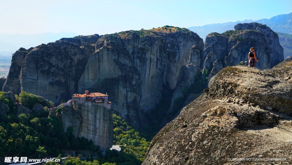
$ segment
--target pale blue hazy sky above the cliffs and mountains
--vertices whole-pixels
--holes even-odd
[[[163,25],[270,19],[292,12],[292,0],[1,0],[0,33],[109,34]]]

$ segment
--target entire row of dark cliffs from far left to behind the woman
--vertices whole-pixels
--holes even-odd
[[[20,49],[13,55],[3,91],[26,91],[56,104],[85,90],[108,93],[112,110],[137,127],[147,123],[144,113],[157,110],[162,93],[171,93],[166,115],[173,118],[180,111],[173,111],[175,98],[182,97],[179,106],[189,103],[200,93],[191,90],[198,81],[247,60],[251,46],[256,47],[258,68],[284,60],[277,34],[270,28],[251,23],[236,29],[208,35],[205,52],[196,33],[170,26],[62,38]],[[203,71],[197,73],[199,69]]]

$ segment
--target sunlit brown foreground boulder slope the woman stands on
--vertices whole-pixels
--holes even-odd
[[[291,70],[224,68],[153,138],[143,165],[292,164]]]

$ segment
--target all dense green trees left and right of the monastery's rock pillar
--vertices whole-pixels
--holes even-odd
[[[33,107],[36,103],[41,103],[38,96],[27,92],[22,92],[16,98],[24,106]],[[0,93],[0,101],[12,105],[4,92]],[[58,108],[55,112],[61,112]],[[48,107],[44,107],[43,112],[31,114],[16,115],[14,111],[7,115],[1,115],[0,118],[0,156],[21,155],[26,157],[56,157],[60,156],[61,150],[75,150],[78,154],[80,150],[97,152],[98,156],[93,159],[88,155],[86,160],[80,160],[79,157],[69,157],[65,164],[81,165],[139,165],[145,159],[145,153],[149,147],[149,141],[142,138],[128,123],[113,115],[114,121],[114,143],[122,145],[121,151],[106,150],[106,156],[103,157],[99,146],[95,146],[92,140],[84,137],[75,137],[73,128],[68,127],[66,133],[63,131],[62,121],[55,116],[48,116]],[[80,153],[80,152],[79,152]],[[55,162],[46,163],[55,165]]]

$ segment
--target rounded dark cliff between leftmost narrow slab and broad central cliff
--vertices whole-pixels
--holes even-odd
[[[30,51],[19,76],[21,90],[59,103],[77,92],[78,81],[94,47],[58,40]]]

